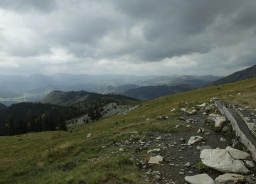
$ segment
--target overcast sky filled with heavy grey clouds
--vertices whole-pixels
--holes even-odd
[[[1,0],[0,74],[229,75],[256,64],[255,0]]]

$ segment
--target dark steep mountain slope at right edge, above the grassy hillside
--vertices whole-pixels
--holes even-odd
[[[216,80],[215,82],[211,82],[207,86],[223,85],[223,84],[227,84],[230,82],[246,80],[251,77],[255,77],[255,75],[256,75],[256,65],[254,65],[252,67],[248,67],[245,70],[235,72],[235,73],[228,75],[227,77],[224,77],[220,80]]]

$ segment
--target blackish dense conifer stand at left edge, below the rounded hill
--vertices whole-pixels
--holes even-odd
[[[0,111],[0,136],[66,130],[65,120],[82,115],[75,107],[22,102]]]

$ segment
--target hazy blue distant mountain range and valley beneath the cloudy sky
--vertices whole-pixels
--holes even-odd
[[[18,102],[40,102],[47,94],[55,90],[64,92],[84,90],[100,94],[124,94],[124,92],[129,90],[145,86],[184,84],[193,87],[203,87],[203,85],[218,79],[220,77],[212,75],[134,76],[55,74],[47,76],[35,74],[28,77],[0,75],[0,102],[6,105]],[[138,95],[135,96],[137,97]]]

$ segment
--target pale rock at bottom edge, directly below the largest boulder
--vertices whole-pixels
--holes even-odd
[[[215,178],[215,183],[242,183],[245,181],[245,176],[238,175],[238,174],[232,174],[232,173],[226,173],[223,175],[219,175],[217,178]]]

